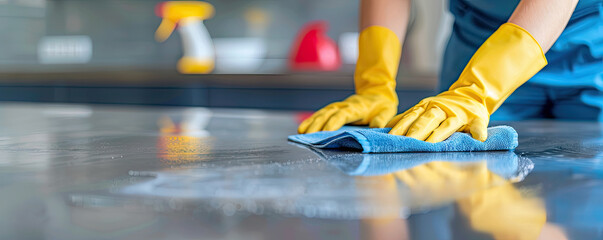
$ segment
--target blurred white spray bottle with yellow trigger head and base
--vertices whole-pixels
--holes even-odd
[[[214,15],[214,7],[199,1],[168,1],[159,3],[155,13],[163,18],[155,32],[157,41],[165,41],[176,28],[182,38],[184,56],[178,61],[178,71],[210,73],[215,66],[215,53],[203,20]]]

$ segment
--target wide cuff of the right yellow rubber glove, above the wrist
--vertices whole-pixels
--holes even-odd
[[[492,114],[546,65],[538,41],[520,26],[505,23],[475,52],[449,91],[483,103]]]

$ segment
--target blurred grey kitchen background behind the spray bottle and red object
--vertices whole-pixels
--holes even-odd
[[[314,110],[353,92],[359,1],[222,0],[203,21],[208,74],[182,74],[182,32],[154,34],[154,0],[0,0],[0,101]],[[400,71],[400,108],[437,88],[452,25],[443,0],[414,1]],[[292,66],[310,23],[327,26],[335,69]],[[300,32],[301,31],[301,32]],[[320,49],[318,50],[320,51]]]

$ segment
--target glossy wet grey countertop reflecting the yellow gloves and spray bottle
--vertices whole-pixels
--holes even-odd
[[[603,126],[513,152],[289,143],[294,113],[0,105],[0,239],[603,239]]]

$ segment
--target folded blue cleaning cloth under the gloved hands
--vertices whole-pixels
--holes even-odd
[[[517,132],[509,126],[488,128],[488,139],[480,142],[470,134],[456,132],[439,143],[429,143],[406,136],[388,134],[390,128],[342,128],[289,136],[289,140],[315,148],[351,149],[363,153],[396,152],[471,152],[513,150]]]

